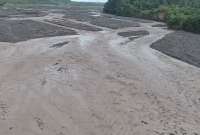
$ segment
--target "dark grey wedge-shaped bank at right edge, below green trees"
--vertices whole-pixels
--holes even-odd
[[[200,35],[178,31],[154,43],[152,48],[200,67]]]

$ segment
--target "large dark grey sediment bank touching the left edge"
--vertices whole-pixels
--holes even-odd
[[[0,42],[19,42],[34,38],[76,35],[70,29],[31,20],[0,20]]]

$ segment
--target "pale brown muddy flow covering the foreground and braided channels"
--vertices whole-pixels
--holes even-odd
[[[30,38],[17,31],[15,42],[10,34],[0,38],[0,135],[200,135],[200,69],[150,48],[172,31],[139,19],[112,22],[88,9],[77,17],[76,9],[3,19],[48,29],[34,25],[47,35]],[[46,21],[55,19],[102,31]],[[48,35],[54,27],[77,34]],[[118,35],[127,31],[149,34],[131,41]]]

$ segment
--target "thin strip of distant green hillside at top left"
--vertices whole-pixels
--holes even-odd
[[[70,0],[0,0],[0,4],[65,4],[69,1]]]

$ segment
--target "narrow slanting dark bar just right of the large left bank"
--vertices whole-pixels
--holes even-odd
[[[61,26],[78,29],[78,30],[102,31],[102,29],[100,29],[100,28],[89,26],[89,25],[82,24],[82,23],[72,22],[69,20],[46,20],[46,21],[50,22],[50,23],[58,24]]]

